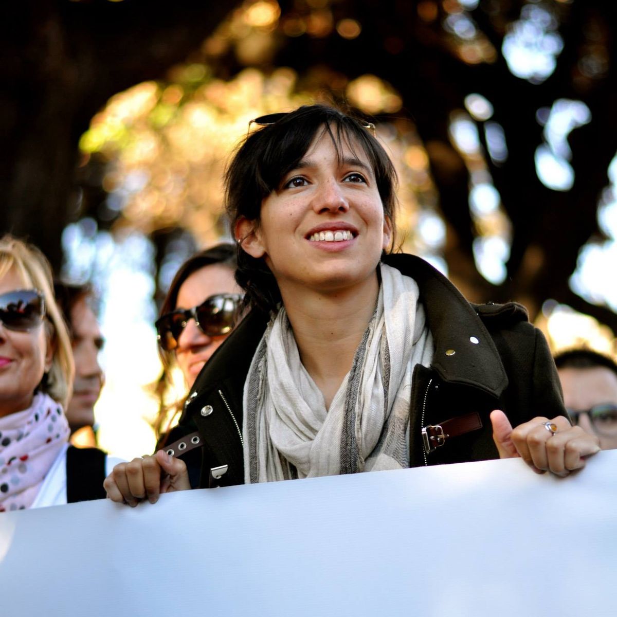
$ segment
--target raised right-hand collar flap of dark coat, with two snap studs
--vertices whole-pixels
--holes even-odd
[[[474,307],[444,275],[420,257],[387,255],[384,263],[418,283],[435,344],[432,366],[439,376],[499,397],[508,385],[508,377],[497,347]]]

